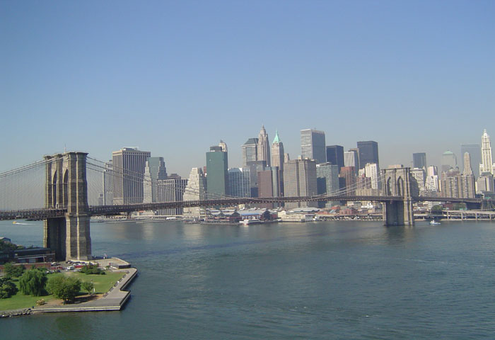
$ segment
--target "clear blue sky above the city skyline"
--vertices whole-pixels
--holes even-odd
[[[187,176],[264,124],[291,154],[376,140],[438,164],[495,140],[495,1],[0,1],[0,171],[125,146]],[[494,142],[495,143],[495,142]],[[495,145],[494,145],[495,147]]]

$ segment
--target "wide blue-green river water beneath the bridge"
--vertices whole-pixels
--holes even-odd
[[[42,245],[42,222],[0,236]],[[4,339],[495,339],[495,223],[92,223],[139,269],[121,312],[0,319]]]

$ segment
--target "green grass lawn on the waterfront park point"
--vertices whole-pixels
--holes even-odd
[[[95,284],[95,293],[96,294],[103,294],[106,293],[110,288],[112,288],[112,285],[114,285],[117,280],[120,280],[122,276],[124,276],[123,272],[119,273],[112,273],[110,271],[106,272],[106,275],[86,275],[83,273],[77,273],[77,272],[64,272],[64,273],[53,273],[53,274],[48,274],[48,280],[54,276],[59,276],[59,275],[70,275],[70,276],[75,276],[81,281],[91,281],[93,280],[93,283]],[[18,279],[14,279],[13,281],[16,283],[17,287],[19,288],[19,282]],[[85,292],[81,290],[80,295],[86,295],[88,292]],[[48,302],[50,300],[54,300],[53,295],[45,295],[45,296],[31,296],[31,295],[24,295],[20,291],[12,296],[8,297],[8,299],[0,299],[0,310],[19,310],[21,308],[28,308],[36,305],[36,301],[40,299],[44,299],[45,302]]]

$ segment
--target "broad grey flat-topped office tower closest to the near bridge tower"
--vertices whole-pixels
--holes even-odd
[[[143,203],[143,176],[151,152],[124,147],[112,152],[114,204]]]

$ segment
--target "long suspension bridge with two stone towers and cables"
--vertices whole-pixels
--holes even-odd
[[[163,203],[97,205],[88,198],[100,191],[103,162],[86,152],[65,152],[45,156],[42,161],[0,174],[0,220],[43,220],[43,245],[58,259],[88,260],[91,256],[90,220],[93,216],[119,215],[141,210],[187,207],[218,207],[256,203],[315,201],[374,201],[383,203],[385,225],[414,225],[413,204],[419,201],[466,203],[480,208],[479,198],[419,196],[409,168],[384,169],[383,195],[356,196],[344,189],[320,196],[240,198],[214,196],[204,200]],[[41,188],[37,191],[33,188]],[[347,188],[349,189],[349,188]],[[93,191],[93,193],[90,193]]]

